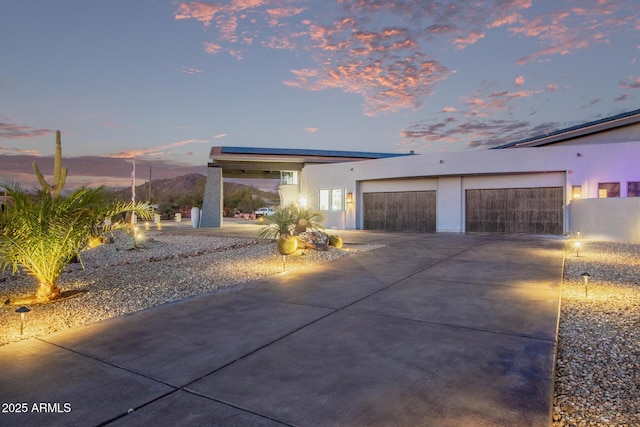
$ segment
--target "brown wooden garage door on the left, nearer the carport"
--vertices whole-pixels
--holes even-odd
[[[364,193],[365,230],[435,231],[436,192]]]

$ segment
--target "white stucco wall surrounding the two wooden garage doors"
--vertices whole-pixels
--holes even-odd
[[[364,190],[406,191],[429,183],[438,193],[437,231],[455,232],[464,231],[466,189],[560,186],[566,207],[574,185],[582,186],[583,198],[595,198],[598,183],[620,182],[625,197],[626,182],[640,181],[638,158],[640,142],[429,153],[306,166],[302,188],[309,200],[317,199],[321,188],[353,191],[353,205],[342,215],[328,215],[327,226],[362,228]],[[568,232],[566,208],[563,218]]]

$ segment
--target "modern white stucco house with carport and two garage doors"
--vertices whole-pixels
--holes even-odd
[[[487,150],[214,147],[211,159],[202,226],[222,224],[223,175],[279,175],[282,204],[323,211],[327,228],[640,242],[640,110]]]

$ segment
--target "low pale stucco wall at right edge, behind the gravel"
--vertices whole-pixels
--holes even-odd
[[[640,197],[573,200],[569,216],[573,236],[640,243]]]

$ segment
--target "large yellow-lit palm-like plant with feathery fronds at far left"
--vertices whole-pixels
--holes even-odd
[[[38,281],[38,302],[60,297],[58,278],[64,268],[88,241],[125,223],[105,221],[112,216],[133,212],[151,219],[153,211],[143,203],[104,201],[103,188],[81,188],[68,197],[52,197],[44,193],[33,201],[16,185],[2,185],[13,203],[0,214],[0,266],[12,273],[23,268]]]

